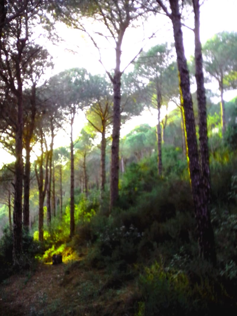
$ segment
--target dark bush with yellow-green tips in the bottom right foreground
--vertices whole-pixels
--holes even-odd
[[[201,274],[193,277],[184,270],[155,262],[140,275],[142,300],[137,316],[236,314],[236,301],[215,276],[210,265],[199,260]],[[209,267],[206,269],[206,267]],[[207,272],[207,273],[205,273]]]

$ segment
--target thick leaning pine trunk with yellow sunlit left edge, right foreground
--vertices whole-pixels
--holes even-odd
[[[180,87],[182,91],[185,114],[185,130],[188,147],[189,171],[195,206],[195,217],[197,220],[199,251],[201,257],[211,261],[213,264],[216,264],[214,234],[210,222],[208,205],[206,204],[204,183],[202,180],[201,168],[199,165],[194,112],[190,92],[189,71],[187,68],[187,61],[185,58],[183,45],[183,33],[181,29],[181,14],[179,12],[179,1],[169,0],[169,2],[172,11],[170,18],[173,24],[175,49],[180,74]]]

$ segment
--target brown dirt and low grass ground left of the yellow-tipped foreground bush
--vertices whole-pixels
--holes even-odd
[[[136,288],[79,261],[39,263],[0,284],[0,315],[133,315]]]

